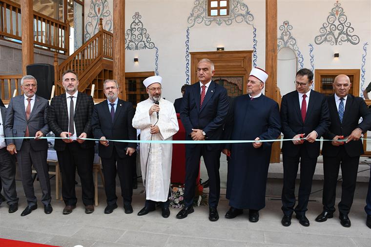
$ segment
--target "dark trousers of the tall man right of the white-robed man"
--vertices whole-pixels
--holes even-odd
[[[193,144],[192,144],[193,145]],[[197,144],[190,148],[186,144],[186,183],[184,202],[185,206],[192,206],[196,189],[196,180],[200,170],[200,158],[204,157],[207,175],[209,177],[210,207],[217,207],[220,196],[220,150],[209,151],[206,144]]]

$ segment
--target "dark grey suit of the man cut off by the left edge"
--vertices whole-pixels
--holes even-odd
[[[2,123],[4,124],[6,108],[0,106],[0,111]],[[0,128],[4,127],[3,124],[0,125]],[[0,148],[0,179],[7,204],[12,205],[18,203],[16,192],[16,163],[14,161],[14,156],[9,154],[6,147]]]

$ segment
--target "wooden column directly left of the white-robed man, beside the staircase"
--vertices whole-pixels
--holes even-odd
[[[125,1],[113,0],[113,79],[120,85],[119,98],[125,91]]]

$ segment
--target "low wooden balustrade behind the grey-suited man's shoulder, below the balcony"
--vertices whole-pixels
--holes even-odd
[[[0,95],[4,104],[9,103],[13,97],[13,90],[17,89],[17,94],[21,95],[23,92],[19,88],[21,84],[22,75],[5,75],[0,76]]]

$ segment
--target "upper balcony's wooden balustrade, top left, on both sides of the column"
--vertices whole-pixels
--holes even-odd
[[[55,20],[36,11],[34,15],[34,45],[68,54],[69,23]],[[0,36],[21,41],[21,5],[0,0]]]

